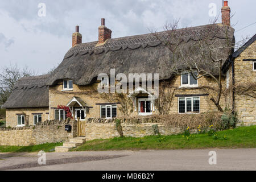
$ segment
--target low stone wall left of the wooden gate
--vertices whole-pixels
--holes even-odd
[[[65,131],[65,125],[71,125],[72,131]],[[77,137],[77,121],[45,121],[36,126],[24,126],[0,129],[0,145],[30,146],[43,143],[65,142]]]

